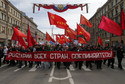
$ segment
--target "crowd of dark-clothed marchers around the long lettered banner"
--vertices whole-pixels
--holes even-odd
[[[86,65],[86,68],[90,68],[91,70],[93,69],[93,65],[96,66],[97,69],[102,69],[102,64],[107,64],[108,67],[111,67],[114,69],[114,63],[115,63],[115,56],[117,56],[118,60],[118,68],[123,69],[122,67],[122,59],[124,58],[124,46],[118,45],[117,47],[109,46],[106,45],[106,47],[101,47],[101,46],[79,46],[79,45],[34,45],[33,47],[29,47],[25,49],[24,47],[17,47],[17,46],[12,46],[12,47],[7,47],[7,46],[0,46],[0,66],[2,64],[7,63],[8,66],[15,66],[17,65],[18,68],[21,68],[22,65],[24,64],[25,66],[29,65],[31,68],[33,64],[35,63],[37,66],[36,68],[40,68],[41,65],[43,64],[44,68],[51,68],[53,62],[33,62],[33,61],[17,61],[17,60],[5,60],[7,52],[9,51],[18,51],[18,52],[36,52],[36,51],[99,51],[99,50],[112,50],[114,53],[114,58],[108,59],[108,60],[92,60],[92,61],[75,61],[75,62],[63,62],[63,65],[65,66],[66,69],[69,69],[69,66],[71,63],[74,63],[75,68],[81,69],[83,63]],[[48,63],[48,64],[47,64]],[[55,62],[55,66],[60,69],[62,63],[61,62]]]

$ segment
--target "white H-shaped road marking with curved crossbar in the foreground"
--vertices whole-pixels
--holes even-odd
[[[54,69],[55,69],[55,66],[53,66],[52,70],[51,70],[51,73],[50,73],[50,78],[48,80],[48,82],[52,82],[53,79],[55,80],[66,80],[66,79],[69,79],[69,82],[70,84],[74,84],[74,81],[72,79],[72,75],[70,73],[70,71],[68,69],[67,70],[67,77],[64,77],[64,78],[57,78],[57,77],[54,77],[53,74],[54,74]]]

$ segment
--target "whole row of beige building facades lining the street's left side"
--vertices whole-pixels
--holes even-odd
[[[8,0],[0,0],[0,45],[11,45],[13,27],[17,26],[20,31],[27,35],[28,24],[31,34],[35,38],[38,29],[36,23],[33,22],[33,18],[26,16]]]

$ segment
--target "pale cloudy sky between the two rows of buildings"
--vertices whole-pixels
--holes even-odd
[[[64,34],[64,30],[51,26],[48,19],[47,12],[57,14],[63,17],[70,28],[76,29],[76,24],[80,22],[80,15],[82,14],[87,19],[90,19],[97,11],[98,8],[103,6],[107,0],[9,0],[16,8],[26,13],[28,17],[33,17],[34,22],[38,25],[38,29],[43,33],[48,32],[52,35],[52,28],[54,34]],[[35,13],[33,13],[33,3],[37,4],[85,4],[88,3],[89,12],[86,13],[85,7],[83,11],[81,8],[68,9],[65,12],[56,12],[52,9],[41,8],[38,11],[37,7]]]

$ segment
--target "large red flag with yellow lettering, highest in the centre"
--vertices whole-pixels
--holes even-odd
[[[61,28],[61,29],[68,28],[68,25],[66,23],[67,21],[64,18],[56,14],[52,14],[50,12],[48,12],[48,17],[49,17],[50,25],[55,25],[56,27]]]

